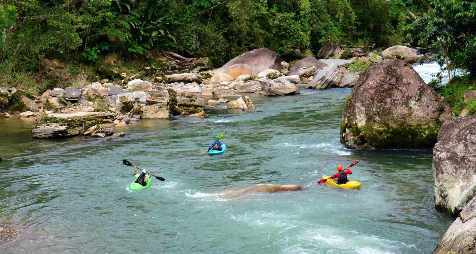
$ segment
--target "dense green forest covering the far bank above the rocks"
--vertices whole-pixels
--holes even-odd
[[[14,71],[40,74],[45,58],[94,64],[111,53],[144,60],[174,51],[220,66],[261,47],[313,54],[329,40],[401,42],[406,9],[426,6],[426,0],[4,0],[1,53],[2,61],[14,59]]]

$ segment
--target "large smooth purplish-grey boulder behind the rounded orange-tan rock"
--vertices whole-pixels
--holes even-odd
[[[251,76],[256,76],[259,72],[266,69],[281,71],[281,59],[278,54],[270,49],[261,48],[243,53],[233,58],[215,73],[223,73],[228,70],[228,67],[238,63],[248,64],[252,71]]]

